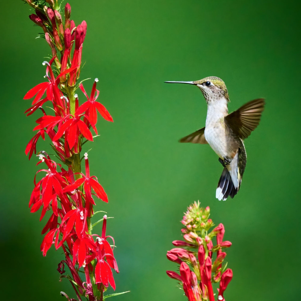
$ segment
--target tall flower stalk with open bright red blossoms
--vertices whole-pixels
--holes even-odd
[[[46,81],[24,96],[24,99],[33,98],[31,107],[25,111],[27,116],[40,113],[33,129],[37,132],[25,150],[29,159],[37,154],[37,165],[42,166],[34,178],[30,211],[42,209],[40,220],[50,216],[42,230],[45,236],[41,251],[46,256],[52,245],[56,249],[62,248],[65,259],[57,268],[61,279],[70,281],[78,300],[102,301],[109,286],[115,290],[112,270],[117,273],[119,270],[113,254],[114,239],[106,235],[107,215],[103,216],[101,235],[93,234],[94,198],[108,202],[108,197],[97,177],[90,175],[87,152],[83,156],[81,152],[85,142],[93,141],[91,131],[98,135],[97,114],[110,122],[113,119],[107,109],[96,101],[99,95],[96,89],[98,79],[94,81],[90,96],[82,83],[77,83],[87,23],[82,21],[75,25],[70,19],[69,3],[61,8],[57,0],[24,2],[35,9],[35,14],[29,18],[43,29],[51,51],[50,61],[43,62]],[[78,88],[87,98],[81,105],[76,94]],[[53,110],[48,114],[49,105]],[[54,156],[36,151],[37,141],[40,137],[45,140],[45,135],[52,141]],[[57,159],[60,163],[56,162]],[[82,172],[82,160],[85,162],[85,172]],[[69,275],[64,270],[65,265],[70,270]],[[81,272],[85,275],[85,281],[79,276]],[[66,293],[61,294],[70,299]]]

